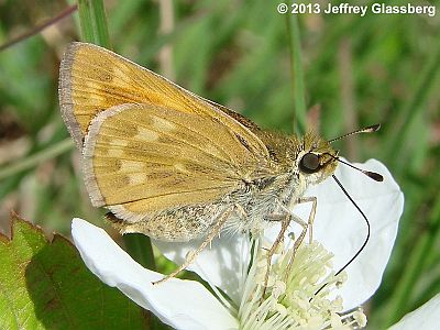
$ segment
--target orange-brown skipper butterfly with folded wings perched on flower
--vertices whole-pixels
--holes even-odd
[[[316,198],[304,191],[338,163],[328,141],[264,131],[91,44],[70,44],[59,75],[63,119],[82,152],[92,205],[109,209],[121,233],[175,242],[206,238],[169,276],[223,229],[260,231],[280,221],[272,253],[292,220],[302,226],[304,239],[316,209]],[[308,221],[292,213],[300,202],[314,205]]]

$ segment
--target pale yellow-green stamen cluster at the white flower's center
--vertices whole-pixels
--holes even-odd
[[[366,317],[362,309],[341,314],[342,298],[334,290],[345,282],[346,274],[342,272],[334,276],[331,262],[333,255],[320,243],[314,241],[311,244],[301,244],[296,253],[292,248],[283,249],[280,254],[274,255],[265,289],[267,251],[258,248],[258,244],[255,241],[256,253],[239,308],[241,329],[365,327]]]

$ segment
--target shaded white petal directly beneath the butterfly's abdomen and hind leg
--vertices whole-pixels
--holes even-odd
[[[187,243],[169,243],[153,240],[153,243],[170,261],[180,265],[189,251],[195,251],[201,240]],[[222,234],[212,240],[211,246],[205,249],[196,261],[188,266],[201,278],[221,288],[235,304],[240,301],[240,278],[246,271],[250,256],[249,240],[245,234]]]

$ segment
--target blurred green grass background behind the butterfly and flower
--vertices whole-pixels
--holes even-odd
[[[383,329],[440,292],[440,13],[296,20],[277,13],[279,2],[105,4],[116,52],[263,128],[294,132],[301,107],[294,89],[301,82],[307,125],[323,136],[382,123],[380,132],[339,146],[352,162],[385,163],[405,194],[392,260],[365,305],[370,328]],[[0,46],[73,4],[0,0]],[[80,40],[79,31],[75,12],[0,52],[0,229],[7,234],[11,210],[66,235],[73,217],[105,226],[82,186],[79,154],[66,140],[57,101],[59,59],[69,42]]]

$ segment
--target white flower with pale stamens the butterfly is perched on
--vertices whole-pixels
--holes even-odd
[[[338,316],[337,312],[356,308],[377,289],[396,238],[397,224],[404,205],[403,194],[384,165],[377,161],[369,161],[365,164],[356,164],[356,166],[382,174],[384,182],[376,183],[346,166],[338,166],[337,177],[367,216],[372,233],[364,251],[344,272],[346,273],[346,280],[343,286],[337,288],[334,280],[329,279],[333,285],[330,284],[326,287],[331,293],[331,296],[328,297],[330,302],[327,304],[326,308],[334,317]],[[366,224],[355,207],[332,179],[310,188],[306,195],[318,198],[314,240],[334,254],[333,272],[336,272],[362,245],[366,235]],[[294,211],[302,219],[307,219],[309,209],[308,206],[298,206]],[[74,219],[72,227],[75,244],[91,272],[102,282],[118,287],[133,301],[152,310],[163,322],[176,329],[239,329],[249,321],[252,315],[255,315],[252,314],[252,310],[255,311],[255,308],[260,306],[258,301],[251,307],[246,304],[251,297],[249,295],[250,283],[258,280],[258,277],[248,276],[251,253],[250,242],[245,235],[222,235],[216,239],[211,248],[200,253],[196,262],[188,267],[209,283],[216,292],[216,295],[212,295],[201,284],[194,280],[172,278],[153,286],[152,282],[162,278],[163,275],[145,270],[134,262],[102,229],[80,219]],[[293,228],[296,231],[295,226]],[[267,238],[273,239],[278,230],[279,228],[267,230]],[[155,244],[168,258],[180,264],[186,254],[197,248],[200,242],[155,242]],[[304,244],[300,249],[308,249],[307,246],[314,245]],[[298,251],[294,260],[298,264],[301,260],[302,263],[306,263],[311,257],[309,255],[301,258],[299,254]],[[275,260],[278,263],[282,258]],[[254,265],[256,264],[257,262],[254,262]],[[274,274],[276,274],[277,265],[273,267]],[[301,275],[296,264],[294,267],[293,272]],[[319,279],[318,276],[317,280]],[[272,280],[273,285],[267,293],[268,298],[280,297],[285,294],[287,286],[292,286],[293,283],[287,280],[286,285]],[[319,284],[317,285],[319,288]],[[306,285],[301,283],[298,286],[296,295],[301,297],[307,305],[308,299],[315,298],[312,294],[315,288],[311,284],[306,294],[301,290]],[[218,288],[227,294],[230,299],[224,298]],[[292,308],[289,309],[293,306],[292,304],[298,304],[302,300],[294,299],[292,300],[294,302],[286,302],[287,305],[274,305],[272,310],[276,310],[278,315],[292,314]],[[329,309],[329,306],[333,304],[331,301],[334,301],[334,309]],[[286,306],[287,309],[283,309]],[[308,306],[305,306],[304,310],[307,310],[307,308]],[[330,320],[334,324],[331,323],[331,326],[336,327],[340,319],[334,319],[332,316],[330,316]],[[363,322],[362,316],[359,314],[352,314],[349,317],[359,318],[359,322]],[[307,314],[306,319],[312,327],[311,322],[319,319],[319,314]]]

